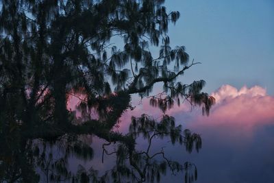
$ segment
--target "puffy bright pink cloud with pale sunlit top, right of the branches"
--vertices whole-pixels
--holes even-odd
[[[216,105],[210,117],[193,117],[204,125],[224,125],[237,129],[253,130],[254,127],[274,124],[274,97],[266,94],[260,86],[238,90],[233,86],[223,85],[212,93]]]

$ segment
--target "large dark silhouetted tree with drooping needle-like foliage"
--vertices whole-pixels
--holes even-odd
[[[185,171],[186,182],[197,179],[194,164],[179,164],[164,151],[151,154],[153,138],[171,138],[191,152],[201,138],[182,131],[164,114],[155,121],[147,114],[132,117],[128,134],[114,132],[131,96],[151,97],[151,105],[165,112],[180,99],[202,106],[209,114],[214,98],[201,90],[203,80],[192,84],[176,79],[197,62],[189,62],[185,47],[171,49],[169,23],[179,12],[167,12],[162,0],[3,0],[0,40],[0,180],[38,182],[40,167],[47,180],[71,182],[160,181],[166,169]],[[120,39],[112,45],[113,39]],[[149,47],[158,47],[153,56]],[[174,68],[171,68],[173,67]],[[151,96],[153,85],[163,84],[161,95]],[[67,109],[71,95],[81,95],[77,108],[82,118]],[[90,111],[96,115],[90,115]],[[96,116],[96,117],[95,117]],[[116,154],[112,171],[66,168],[69,154],[92,158],[82,135],[102,138],[103,156]],[[144,136],[149,146],[136,149]],[[116,150],[109,152],[110,144]],[[64,157],[54,160],[47,146],[62,144]],[[61,147],[60,147],[61,148]],[[162,160],[155,158],[162,157]],[[189,169],[195,168],[192,175]],[[110,176],[111,175],[111,176]]]

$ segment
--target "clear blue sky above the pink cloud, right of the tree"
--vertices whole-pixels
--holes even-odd
[[[166,7],[181,13],[169,29],[171,43],[202,62],[184,80],[206,80],[208,93],[230,84],[274,95],[274,1],[173,0]]]

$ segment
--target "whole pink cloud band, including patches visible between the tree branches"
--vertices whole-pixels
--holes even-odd
[[[210,116],[201,115],[201,108],[190,108],[185,102],[181,106],[175,105],[166,113],[174,116],[177,124],[181,123],[194,129],[219,127],[234,132],[249,135],[254,127],[274,124],[274,97],[267,95],[266,89],[260,86],[237,89],[234,86],[223,85],[211,94],[216,99]],[[72,97],[69,106],[74,110],[77,99]],[[133,97],[134,110],[127,110],[121,117],[119,131],[127,132],[132,116],[138,117],[146,113],[155,119],[162,117],[162,111],[149,105],[149,99],[140,101],[139,97]],[[222,130],[221,130],[222,131]]]

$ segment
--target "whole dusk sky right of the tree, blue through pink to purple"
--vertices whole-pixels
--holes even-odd
[[[171,45],[184,45],[190,59],[202,63],[179,80],[206,80],[204,91],[216,105],[209,117],[187,103],[167,112],[178,125],[201,134],[199,154],[171,147],[168,140],[156,141],[153,148],[166,147],[175,160],[194,162],[197,182],[274,182],[274,1],[172,0],[165,5],[181,14],[169,29]],[[136,108],[121,117],[121,132],[132,115],[162,115],[147,99],[141,104],[133,99]],[[99,156],[92,164],[100,164]],[[162,182],[183,182],[183,177],[168,174]]]

